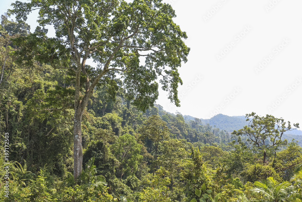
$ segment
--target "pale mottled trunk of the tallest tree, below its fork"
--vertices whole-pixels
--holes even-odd
[[[82,130],[81,121],[82,115],[80,109],[75,110],[74,122],[73,122],[73,177],[76,180],[82,173]]]

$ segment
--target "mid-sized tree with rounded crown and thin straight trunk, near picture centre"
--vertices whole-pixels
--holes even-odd
[[[153,166],[153,176],[157,165],[157,152],[160,141],[169,138],[169,129],[167,123],[162,121],[158,115],[150,116],[145,122],[144,126],[140,129],[141,138],[151,140],[155,145],[155,158]]]

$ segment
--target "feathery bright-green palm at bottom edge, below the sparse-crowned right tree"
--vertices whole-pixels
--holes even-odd
[[[262,201],[266,202],[288,201],[296,194],[291,183],[284,181],[279,184],[273,177],[255,181],[254,184],[256,188],[251,189],[252,194],[260,194]]]

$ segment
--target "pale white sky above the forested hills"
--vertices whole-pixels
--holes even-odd
[[[0,5],[2,14],[13,0]],[[302,126],[302,1],[164,0],[191,48],[179,73],[181,107],[159,89],[166,111],[197,118],[255,112]],[[37,12],[27,23],[37,26]],[[50,33],[52,32],[52,28]]]

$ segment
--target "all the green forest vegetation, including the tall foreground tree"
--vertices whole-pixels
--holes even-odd
[[[229,133],[153,106],[158,75],[179,104],[177,68],[189,51],[170,5],[31,1],[10,12],[20,20],[36,7],[56,37],[1,20],[0,149],[9,134],[9,151],[0,153],[0,201],[302,200],[302,148],[284,139],[299,124],[252,112]],[[100,66],[85,65],[89,57]]]

